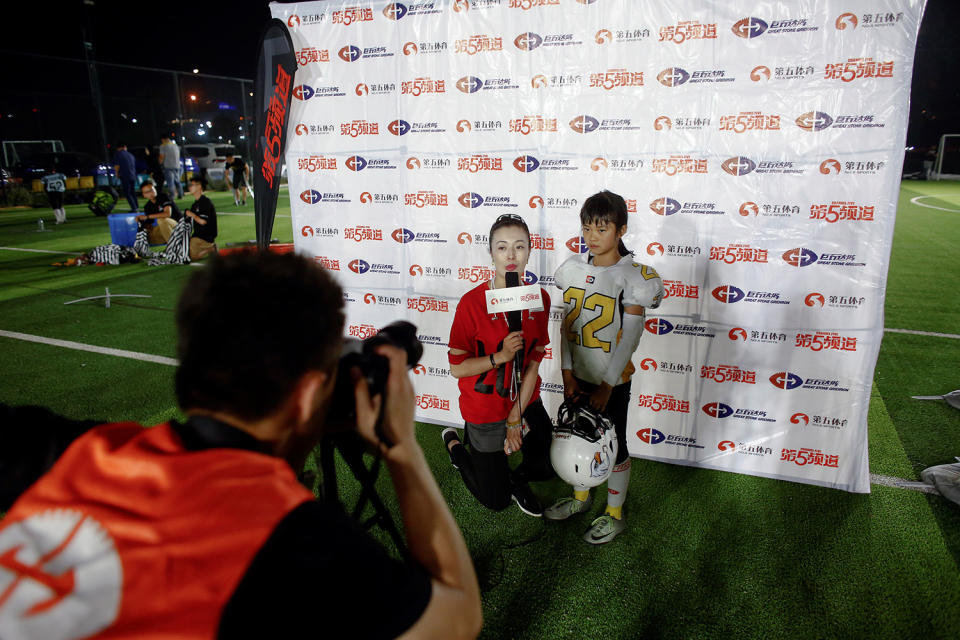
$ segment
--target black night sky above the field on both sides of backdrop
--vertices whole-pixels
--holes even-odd
[[[196,67],[252,79],[260,31],[269,17],[266,2],[95,0],[90,7],[83,0],[66,0],[42,10],[17,3],[4,7],[7,28],[0,51],[82,59],[81,28],[89,24],[98,60],[183,71]],[[18,21],[30,26],[11,28]],[[960,132],[957,25],[960,1],[928,0],[914,65],[908,145],[933,145],[943,133]],[[14,59],[18,66],[30,61]],[[46,73],[56,82],[56,63],[49,64]],[[0,88],[0,100],[8,93],[9,87]]]

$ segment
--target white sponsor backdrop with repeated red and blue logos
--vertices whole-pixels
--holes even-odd
[[[583,200],[627,199],[667,289],[634,356],[634,456],[869,491],[867,407],[923,0],[271,4],[300,68],[297,251],[350,332],[425,343],[418,418],[460,423],[446,342],[505,212],[554,297]]]

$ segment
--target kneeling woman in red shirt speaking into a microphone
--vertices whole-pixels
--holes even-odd
[[[530,257],[530,231],[518,215],[505,214],[490,228],[495,276],[468,291],[457,304],[450,329],[450,372],[459,380],[460,413],[469,449],[456,429],[443,431],[450,461],[481,504],[501,510],[513,499],[524,513],[539,517],[543,508],[530,480],[553,477],[551,422],[540,401],[540,361],[550,338],[550,297],[521,314],[521,330],[510,331],[505,313],[490,313],[486,292],[507,286],[507,274],[523,278]],[[515,383],[515,355],[521,380]],[[513,471],[507,460],[518,451],[523,462]]]

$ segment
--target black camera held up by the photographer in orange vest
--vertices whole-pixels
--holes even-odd
[[[370,397],[380,395],[387,386],[390,375],[390,361],[374,350],[382,345],[389,344],[403,349],[407,354],[407,367],[416,365],[423,356],[423,345],[417,339],[417,328],[405,320],[391,322],[376,334],[359,340],[346,337],[340,350],[340,361],[337,365],[337,383],[333,390],[333,404],[330,407],[330,424],[338,425],[343,429],[353,428],[357,421],[356,401],[353,395],[353,378],[350,370],[356,367],[367,380],[370,388]],[[392,443],[384,437],[377,422],[377,436],[387,446]]]

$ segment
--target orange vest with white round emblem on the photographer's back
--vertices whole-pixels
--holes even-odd
[[[78,438],[0,521],[0,637],[212,638],[254,555],[313,500],[283,460],[169,424]]]

